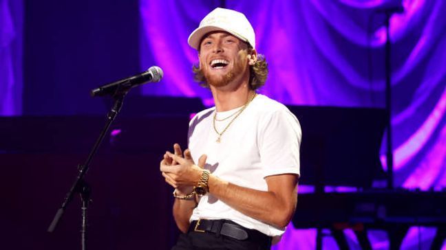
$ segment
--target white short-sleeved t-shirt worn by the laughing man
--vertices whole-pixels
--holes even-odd
[[[217,112],[217,120],[229,117],[241,108]],[[217,143],[213,128],[215,107],[201,111],[189,124],[189,149],[195,163],[206,154],[206,169],[235,185],[267,191],[265,177],[275,174],[299,175],[301,127],[286,106],[257,95],[233,121]],[[215,122],[221,133],[235,115]],[[248,229],[268,236],[279,236],[277,228],[237,212],[212,194],[204,195],[190,220],[199,218],[233,220]]]

